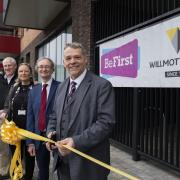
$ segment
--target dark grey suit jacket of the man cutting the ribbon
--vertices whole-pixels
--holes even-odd
[[[47,133],[56,130],[57,140],[61,134],[63,103],[68,91],[69,78],[57,89],[53,114]],[[70,102],[71,111],[67,137],[72,137],[75,148],[105,163],[110,163],[109,134],[115,123],[114,92],[109,81],[87,72]],[[71,180],[104,179],[109,173],[103,167],[78,155],[68,155]],[[61,164],[59,153],[54,157],[54,168]],[[60,165],[61,166],[61,165]],[[59,166],[59,167],[60,167]]]

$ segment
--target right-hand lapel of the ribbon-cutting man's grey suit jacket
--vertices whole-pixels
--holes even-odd
[[[82,103],[84,96],[85,96],[86,92],[88,91],[90,85],[91,85],[91,78],[90,78],[90,76],[88,76],[88,73],[87,73],[84,80],[82,81],[82,83],[80,84],[80,86],[78,87],[78,89],[76,91],[76,97],[75,97],[76,100],[75,100],[75,103],[72,108],[73,117],[70,120],[68,130],[71,128],[71,126],[73,125],[73,123],[76,120],[76,116],[78,115],[78,111],[80,109],[81,103]],[[72,102],[73,101],[74,101],[74,98],[73,98]]]

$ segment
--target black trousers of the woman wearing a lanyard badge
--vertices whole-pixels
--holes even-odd
[[[15,152],[15,149],[16,146],[10,145],[12,156]],[[21,159],[24,159],[25,163],[25,175],[23,176],[23,178],[25,180],[32,180],[35,166],[35,157],[30,156],[30,154],[27,152],[25,141],[21,141]]]

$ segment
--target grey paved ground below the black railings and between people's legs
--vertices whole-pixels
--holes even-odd
[[[180,172],[174,171],[151,160],[133,161],[131,154],[114,146],[111,146],[111,165],[141,180],[180,180]],[[52,160],[50,166],[52,167]],[[127,179],[128,178],[114,172],[111,172],[108,177],[108,180]],[[37,167],[34,172],[33,180],[37,180]],[[56,174],[51,172],[49,180],[57,180]]]

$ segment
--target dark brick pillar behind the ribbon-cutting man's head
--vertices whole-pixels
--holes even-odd
[[[90,69],[94,71],[93,2],[91,0],[71,0],[73,41],[82,43],[90,60]]]

